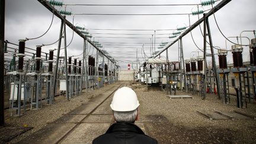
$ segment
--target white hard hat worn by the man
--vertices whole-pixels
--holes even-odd
[[[133,111],[139,105],[135,91],[128,87],[122,87],[114,93],[110,107],[113,111]]]

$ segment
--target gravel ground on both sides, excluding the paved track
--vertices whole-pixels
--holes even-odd
[[[44,104],[40,110],[27,111],[22,117],[9,117],[9,111],[6,110],[7,124],[34,127],[10,143],[31,135],[111,87],[113,85],[95,91],[83,91],[82,95],[73,97],[71,101],[67,101],[65,96],[56,97],[55,104]],[[146,91],[145,87],[139,85],[133,88],[140,101],[140,114],[159,116],[144,123],[148,135],[155,137],[159,143],[256,143],[256,120],[209,120],[196,112],[239,110],[256,116],[255,104],[248,104],[248,108],[236,108],[235,97],[231,97],[231,104],[227,105],[217,100],[216,95],[207,95],[206,100],[201,100],[199,95],[192,95],[193,99],[169,99],[166,91]],[[178,91],[177,95],[188,94]]]

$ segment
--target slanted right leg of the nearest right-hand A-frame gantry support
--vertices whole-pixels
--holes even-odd
[[[208,37],[209,37],[209,42],[210,42],[210,49],[211,49],[211,53],[212,53],[213,72],[215,73],[216,86],[217,86],[217,95],[220,99],[219,75],[217,73],[217,68],[216,68],[215,54],[214,54],[214,51],[213,51],[212,35],[210,33],[210,25],[209,25],[208,18],[206,18],[206,24],[207,24]]]

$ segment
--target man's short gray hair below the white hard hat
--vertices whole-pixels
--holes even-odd
[[[113,111],[114,119],[117,122],[134,123],[137,117],[138,110],[133,111]]]

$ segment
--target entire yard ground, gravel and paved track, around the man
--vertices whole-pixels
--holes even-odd
[[[255,143],[254,117],[233,115],[217,116],[216,111],[233,114],[240,111],[256,116],[256,105],[237,108],[235,97],[223,104],[217,95],[209,94],[206,100],[199,95],[193,98],[169,98],[166,91],[147,90],[146,85],[119,81],[94,91],[83,91],[72,98],[55,98],[54,105],[43,104],[40,110],[29,110],[21,117],[9,117],[8,126],[33,127],[8,143],[91,143],[106,132],[111,123],[110,103],[113,92],[127,86],[135,89],[140,101],[139,121],[136,124],[159,143]],[[188,95],[177,91],[177,95]],[[207,116],[199,113],[209,113]],[[212,117],[211,117],[212,116]]]

